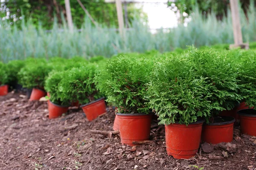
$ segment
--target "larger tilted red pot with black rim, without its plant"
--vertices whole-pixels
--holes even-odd
[[[99,115],[107,112],[104,97],[90,102],[86,105],[81,105],[81,108],[83,109],[89,121],[92,121],[93,119],[96,119]]]

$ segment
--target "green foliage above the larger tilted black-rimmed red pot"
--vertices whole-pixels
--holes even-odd
[[[93,82],[98,71],[98,65],[93,63],[67,71],[59,84],[61,100],[79,101],[83,105],[102,97]]]

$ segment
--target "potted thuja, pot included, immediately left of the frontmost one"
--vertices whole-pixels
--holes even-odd
[[[95,78],[97,88],[117,108],[122,144],[133,146],[134,141],[148,140],[152,114],[144,95],[152,63],[133,57],[120,57],[107,62]]]

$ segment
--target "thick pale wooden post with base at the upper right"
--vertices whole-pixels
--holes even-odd
[[[230,0],[230,8],[232,14],[232,24],[233,24],[233,35],[235,44],[230,45],[230,48],[249,48],[248,44],[243,43],[243,36],[241,31],[240,16],[239,16],[239,3],[238,0]]]

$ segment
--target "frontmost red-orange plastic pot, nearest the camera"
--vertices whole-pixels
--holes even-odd
[[[175,159],[189,159],[198,152],[204,120],[186,125],[165,125],[166,150]]]

